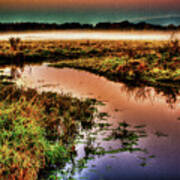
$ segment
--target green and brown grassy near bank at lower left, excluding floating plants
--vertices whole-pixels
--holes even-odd
[[[95,101],[0,86],[0,179],[38,179],[64,166],[79,125],[90,128]]]

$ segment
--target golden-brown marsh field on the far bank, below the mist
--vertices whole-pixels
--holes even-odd
[[[15,41],[15,39],[14,39]],[[14,42],[13,41],[13,42]],[[180,44],[170,41],[18,41],[0,42],[0,66],[61,61],[73,67],[134,84],[177,86]]]

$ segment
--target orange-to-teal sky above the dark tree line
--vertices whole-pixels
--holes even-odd
[[[180,0],[0,0],[0,22],[180,24]]]

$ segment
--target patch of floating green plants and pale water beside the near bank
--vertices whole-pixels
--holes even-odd
[[[112,124],[100,119],[97,120],[96,127],[89,127],[89,131],[83,131],[76,139],[76,150],[72,153],[71,162],[64,169],[56,170],[54,175],[62,179],[91,179],[83,177],[84,169],[91,173],[97,173],[98,168],[92,163],[98,161],[104,156],[112,159],[122,156],[123,152],[139,152],[139,166],[145,167],[155,158],[147,149],[139,147],[141,138],[147,137],[145,125],[130,127],[126,122],[121,122],[116,128]],[[111,169],[111,164],[106,165]]]

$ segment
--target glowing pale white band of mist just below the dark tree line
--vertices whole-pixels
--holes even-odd
[[[19,37],[22,40],[157,40],[165,41],[172,38],[172,32],[158,31],[45,31],[45,32],[13,32],[1,33],[0,40]],[[180,39],[177,32],[174,39]]]

